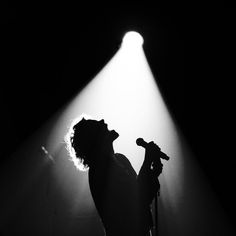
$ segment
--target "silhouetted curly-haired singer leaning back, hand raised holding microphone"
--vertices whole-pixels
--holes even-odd
[[[148,236],[153,226],[150,205],[160,188],[162,153],[153,142],[142,145],[146,151],[137,175],[124,155],[114,153],[113,141],[118,137],[104,120],[82,118],[72,125],[65,141],[70,154],[88,169],[105,235]]]

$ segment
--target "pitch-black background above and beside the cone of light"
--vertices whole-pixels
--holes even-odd
[[[137,30],[162,95],[233,220],[234,9],[1,8],[1,162],[88,83]]]

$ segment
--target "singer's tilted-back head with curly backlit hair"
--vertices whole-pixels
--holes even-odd
[[[112,143],[118,136],[116,131],[108,130],[104,120],[80,118],[72,123],[65,141],[70,156],[76,159],[79,168],[88,169],[103,161],[101,158],[112,151]]]

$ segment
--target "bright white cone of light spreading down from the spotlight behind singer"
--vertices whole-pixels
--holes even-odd
[[[133,41],[134,35],[137,36],[137,33],[124,37],[120,49],[110,62],[52,117],[41,130],[42,135],[36,135],[39,149],[44,147],[44,153],[48,150],[45,154],[50,153],[54,159],[54,163],[50,162],[53,163],[50,168],[52,184],[47,185],[47,192],[51,192],[52,197],[47,197],[50,202],[47,205],[56,205],[57,210],[62,212],[58,215],[63,217],[65,229],[72,223],[77,226],[80,223],[78,229],[81,229],[85,219],[97,217],[87,172],[78,171],[69,161],[64,143],[71,122],[85,113],[94,119],[104,119],[109,129],[118,131],[120,137],[114,142],[114,149],[127,156],[136,172],[144,158],[144,149],[136,145],[138,137],[153,140],[170,157],[168,162],[163,160],[163,173],[159,178],[161,235],[196,235],[196,227],[197,235],[224,232],[227,224],[223,222],[220,207],[162,99],[142,48],[142,38],[140,36]],[[33,148],[32,145],[29,147]],[[34,152],[29,150],[25,155],[36,158]],[[40,195],[36,190],[34,197],[38,200],[42,193]],[[98,223],[96,225],[99,226]],[[55,221],[54,226],[58,229],[61,224]]]

